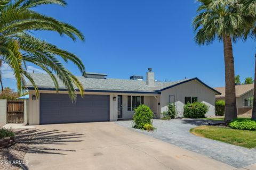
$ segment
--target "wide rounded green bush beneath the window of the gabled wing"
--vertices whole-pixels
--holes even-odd
[[[195,102],[184,105],[183,116],[187,118],[204,118],[209,107],[204,103]]]

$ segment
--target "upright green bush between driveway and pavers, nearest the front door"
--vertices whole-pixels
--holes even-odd
[[[135,108],[133,115],[133,128],[143,129],[145,124],[152,124],[153,112],[146,105],[140,105]]]

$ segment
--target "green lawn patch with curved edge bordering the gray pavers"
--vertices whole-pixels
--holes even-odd
[[[217,126],[198,126],[190,132],[204,138],[209,138],[245,148],[256,147],[256,131],[220,128]]]

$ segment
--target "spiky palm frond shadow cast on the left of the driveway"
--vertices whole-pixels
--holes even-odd
[[[3,148],[0,151],[0,159],[6,160],[11,164],[6,164],[5,167],[0,165],[0,169],[19,169],[20,167],[28,169],[26,163],[22,162],[26,153],[67,155],[65,154],[66,151],[74,152],[76,150],[56,149],[45,145],[67,145],[67,142],[82,142],[83,140],[79,140],[79,138],[83,137],[83,135],[60,130],[16,130],[15,145],[10,148]]]

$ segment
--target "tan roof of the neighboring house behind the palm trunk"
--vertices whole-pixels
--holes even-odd
[[[246,92],[253,90],[253,88],[254,88],[254,84],[242,84],[242,85],[236,86],[236,97],[240,97],[246,94]],[[216,96],[216,98],[225,97],[225,87],[215,87],[214,89],[221,92],[221,95]]]

